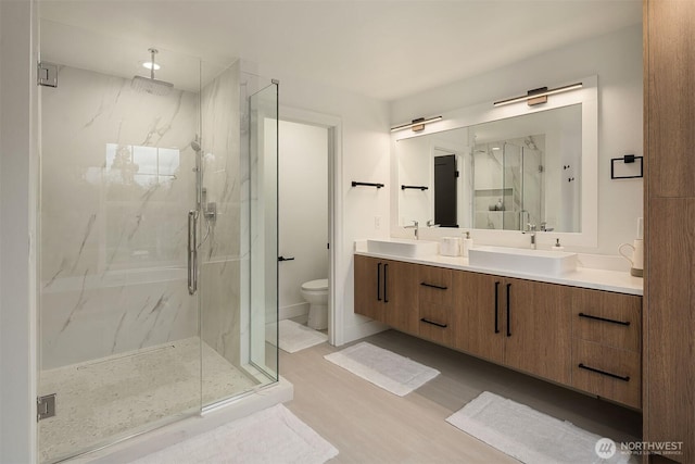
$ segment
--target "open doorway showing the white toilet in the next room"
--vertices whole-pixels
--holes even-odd
[[[331,116],[281,109],[278,162],[279,319],[318,330],[332,344],[338,124]]]

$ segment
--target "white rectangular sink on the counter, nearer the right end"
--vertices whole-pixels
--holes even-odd
[[[577,253],[482,246],[468,251],[468,264],[525,274],[557,276],[577,269]]]

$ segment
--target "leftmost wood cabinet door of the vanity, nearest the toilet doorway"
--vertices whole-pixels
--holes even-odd
[[[386,322],[383,314],[383,260],[355,255],[355,313]]]

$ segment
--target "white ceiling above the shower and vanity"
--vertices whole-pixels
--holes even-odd
[[[639,24],[642,1],[43,0],[40,16],[62,64],[131,76],[155,46],[390,101]]]

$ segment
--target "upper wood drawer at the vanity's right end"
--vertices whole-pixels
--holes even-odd
[[[640,353],[642,297],[573,288],[568,298],[573,337]]]

